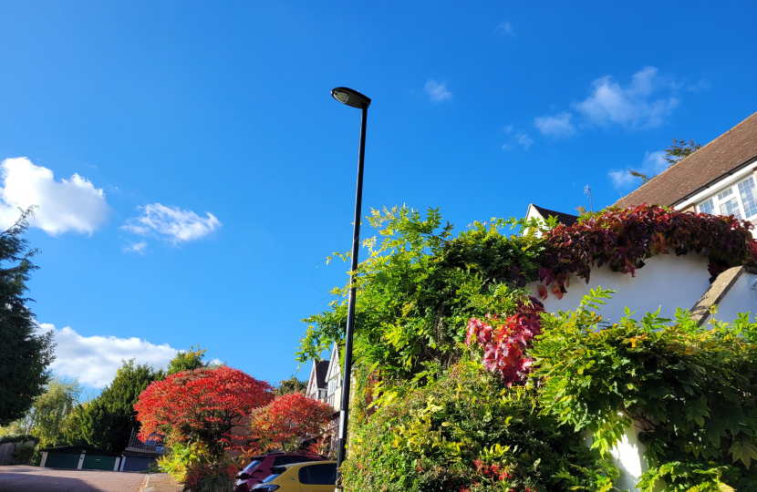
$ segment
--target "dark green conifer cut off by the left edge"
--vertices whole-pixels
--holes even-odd
[[[0,425],[26,415],[37,396],[45,393],[50,380],[47,369],[55,360],[52,333],[38,333],[34,314],[24,297],[32,259],[38,252],[24,239],[27,219],[33,209],[0,234]]]

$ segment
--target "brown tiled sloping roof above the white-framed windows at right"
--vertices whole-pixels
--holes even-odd
[[[618,207],[643,203],[676,205],[757,159],[757,113],[617,200]]]

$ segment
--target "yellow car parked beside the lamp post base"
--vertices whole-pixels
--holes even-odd
[[[336,483],[336,461],[308,461],[271,466],[271,475],[251,492],[334,492]]]

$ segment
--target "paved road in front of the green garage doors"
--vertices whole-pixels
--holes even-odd
[[[0,466],[0,492],[137,492],[145,477],[141,473]]]

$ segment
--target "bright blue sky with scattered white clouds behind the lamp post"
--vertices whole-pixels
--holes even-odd
[[[39,205],[30,284],[57,371],[193,343],[277,382],[364,210],[464,227],[613,203],[757,110],[753,2],[2,2],[0,220]],[[27,158],[27,159],[21,159]],[[616,174],[613,174],[613,172]],[[65,181],[64,181],[65,179]],[[317,268],[316,268],[317,267]],[[306,378],[309,366],[300,373]]]

